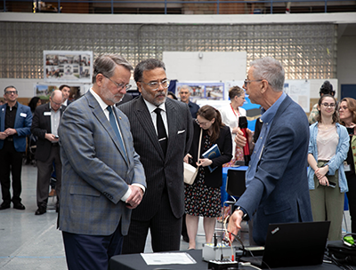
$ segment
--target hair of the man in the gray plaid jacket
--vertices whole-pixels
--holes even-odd
[[[96,82],[96,75],[98,74],[102,74],[107,77],[114,75],[117,65],[125,67],[128,71],[134,69],[134,67],[121,55],[113,53],[101,54],[101,56],[94,61],[92,82]]]

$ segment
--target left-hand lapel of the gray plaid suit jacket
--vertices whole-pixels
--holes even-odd
[[[109,123],[108,118],[102,111],[98,101],[96,101],[96,99],[93,97],[90,91],[87,92],[86,97],[88,99],[89,107],[92,107],[93,109],[93,115],[98,119],[99,123],[101,123],[103,128],[108,132],[110,138],[114,141],[118,151],[123,156],[125,163],[127,163],[127,160],[125,159],[124,149],[122,149],[122,147],[120,146],[117,139],[117,135],[115,134],[115,131],[112,129],[111,124]]]

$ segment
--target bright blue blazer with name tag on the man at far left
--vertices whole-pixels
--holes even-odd
[[[0,106],[0,131],[5,130],[5,115],[7,104]],[[26,136],[31,134],[32,113],[28,106],[17,102],[17,112],[13,128],[17,134],[13,135],[13,147],[17,152],[26,151]],[[4,139],[0,139],[0,149],[4,147]]]

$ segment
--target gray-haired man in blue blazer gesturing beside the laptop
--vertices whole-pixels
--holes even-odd
[[[237,234],[243,218],[254,218],[254,241],[263,245],[270,223],[312,221],[307,179],[308,119],[283,92],[285,72],[266,57],[251,62],[244,82],[252,103],[263,107],[263,127],[247,170],[247,190],[235,204],[229,231]],[[249,132],[248,143],[252,143]],[[239,132],[242,147],[247,140]]]

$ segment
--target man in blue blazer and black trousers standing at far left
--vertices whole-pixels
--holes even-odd
[[[4,99],[7,103],[0,107],[0,182],[3,194],[0,210],[10,208],[11,202],[13,208],[25,210],[20,198],[22,155],[26,151],[26,136],[31,133],[32,113],[31,109],[21,105],[17,98],[18,91],[14,86],[4,89]]]

